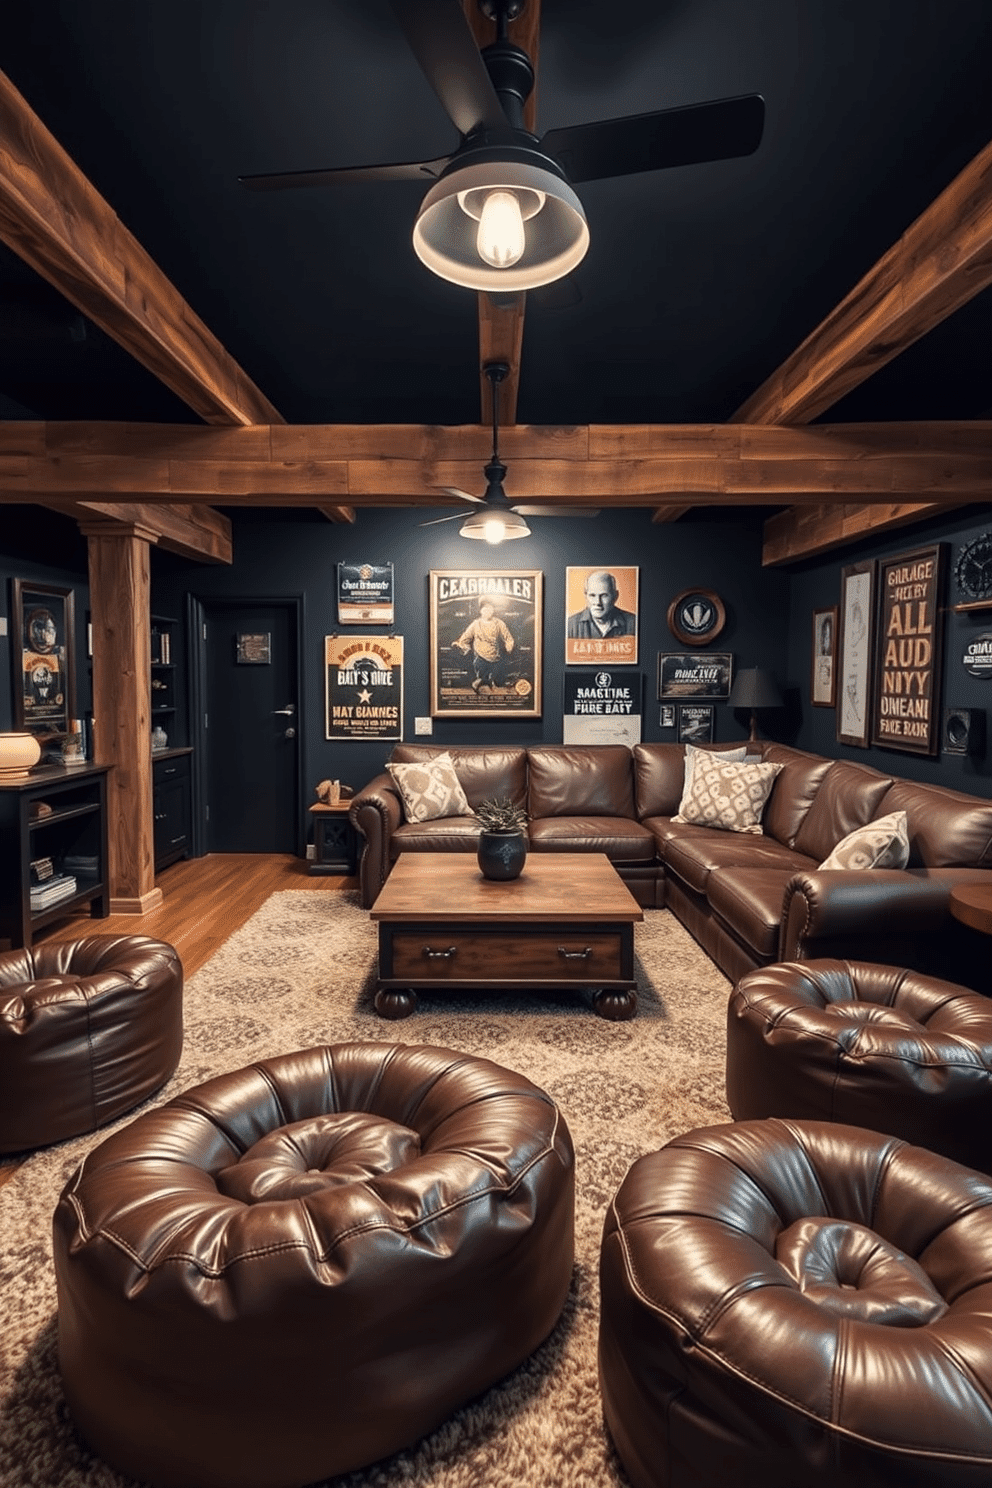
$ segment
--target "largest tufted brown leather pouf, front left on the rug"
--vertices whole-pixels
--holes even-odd
[[[290,1488],[415,1442],[555,1326],[574,1165],[550,1097],[451,1049],[265,1059],[98,1146],[55,1211],[89,1445],[162,1488]]]

